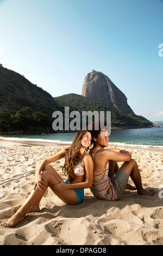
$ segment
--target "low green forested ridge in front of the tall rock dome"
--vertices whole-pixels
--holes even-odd
[[[140,128],[140,127],[152,127],[151,121],[140,115],[134,113],[126,114],[120,109],[114,107],[108,107],[95,100],[87,99],[82,95],[70,93],[62,96],[54,97],[54,100],[61,107],[69,107],[69,112],[78,111],[82,114],[82,111],[111,111],[111,127],[112,128]]]

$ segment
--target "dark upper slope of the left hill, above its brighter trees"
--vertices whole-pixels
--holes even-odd
[[[49,116],[60,108],[45,90],[17,72],[0,66],[0,111],[15,112],[25,106]]]

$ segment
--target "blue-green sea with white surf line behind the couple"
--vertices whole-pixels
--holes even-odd
[[[75,135],[76,132],[58,132],[38,135],[1,136],[0,139],[9,141],[53,142],[55,144],[70,145]],[[109,145],[163,149],[163,127],[111,130]]]

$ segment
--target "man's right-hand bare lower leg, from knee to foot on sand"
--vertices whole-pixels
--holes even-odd
[[[128,173],[128,175],[130,175],[131,179],[134,181],[137,189],[137,194],[147,194],[148,196],[154,195],[154,190],[146,191],[143,188],[140,171],[134,159],[130,160],[129,162],[124,162],[121,166],[121,169],[124,170],[124,172]]]

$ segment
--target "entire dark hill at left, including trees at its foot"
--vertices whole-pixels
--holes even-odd
[[[57,110],[62,108],[49,93],[0,65],[1,135],[54,132],[52,113]]]

